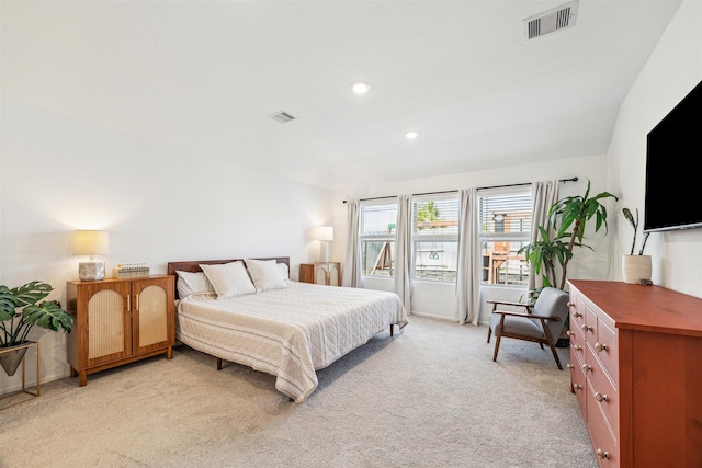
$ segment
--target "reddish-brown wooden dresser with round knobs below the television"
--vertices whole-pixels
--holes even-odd
[[[702,299],[569,281],[570,381],[601,467],[702,467]]]

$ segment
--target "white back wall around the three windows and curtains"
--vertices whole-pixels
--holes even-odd
[[[577,176],[578,182],[561,184],[561,196],[582,195],[588,179],[591,181],[591,193],[605,191],[607,161],[604,155],[588,158],[563,159],[551,162],[525,164],[488,171],[475,171],[462,174],[451,174],[439,178],[427,178],[412,181],[386,183],[377,186],[355,187],[335,192],[333,219],[335,242],[331,256],[337,261],[344,261],[347,240],[347,205],[344,199],[371,198],[399,194],[417,194],[427,192],[450,191],[467,187],[483,187],[492,185],[514,184],[524,182],[545,181],[554,179],[570,179]],[[615,194],[616,195],[616,194]],[[613,202],[605,202],[609,206]],[[590,226],[592,228],[592,226]],[[590,229],[589,228],[589,229]],[[586,236],[587,242],[593,251],[579,249],[569,265],[570,278],[605,279],[610,274],[611,262],[604,230]],[[373,289],[393,289],[392,279],[364,278],[363,286]],[[484,286],[480,296],[483,305],[478,321],[487,322],[490,308],[485,303],[488,299],[518,300],[525,288],[513,286]],[[412,294],[412,313],[427,315],[437,318],[457,320],[456,297],[454,284],[438,284],[435,282],[415,282]]]

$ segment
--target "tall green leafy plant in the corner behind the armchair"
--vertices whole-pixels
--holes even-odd
[[[553,239],[543,226],[539,226],[541,239],[522,247],[519,252],[526,255],[526,261],[534,266],[536,274],[542,274],[545,286],[564,289],[568,273],[568,262],[573,259],[576,247],[591,247],[582,243],[585,230],[590,219],[595,218],[595,231],[604,227],[608,231],[607,207],[604,198],[619,199],[609,192],[590,196],[590,181],[584,195],[568,196],[554,203],[548,209],[548,217],[555,227]],[[561,266],[561,279],[557,281],[556,262]]]

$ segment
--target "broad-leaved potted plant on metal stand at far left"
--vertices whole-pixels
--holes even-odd
[[[34,326],[47,330],[66,330],[70,333],[73,319],[55,300],[44,300],[54,288],[44,282],[33,281],[10,289],[0,285],[0,351],[27,343],[27,334]],[[39,303],[41,301],[41,303]],[[13,376],[24,357],[26,347],[0,354],[0,364],[8,376]]]

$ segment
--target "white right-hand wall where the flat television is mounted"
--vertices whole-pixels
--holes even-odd
[[[644,213],[646,135],[702,80],[702,2],[687,0],[678,10],[624,100],[608,155],[608,185],[622,194],[620,206]],[[699,156],[699,155],[695,155]],[[694,170],[694,158],[671,163]],[[676,162],[677,161],[677,162]],[[675,183],[675,181],[670,181]],[[699,205],[699,201],[681,201]],[[698,208],[699,209],[699,208]],[[633,230],[618,213],[615,258],[627,253]],[[702,297],[702,229],[652,233],[646,254],[654,284]],[[621,267],[614,273],[621,279]]]

